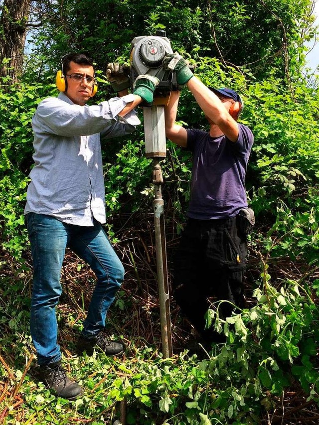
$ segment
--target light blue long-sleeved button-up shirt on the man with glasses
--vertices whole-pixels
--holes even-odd
[[[24,213],[54,216],[78,226],[105,223],[105,188],[100,140],[132,133],[135,111],[119,112],[132,95],[94,106],[75,105],[64,93],[44,99],[33,118],[34,167]]]

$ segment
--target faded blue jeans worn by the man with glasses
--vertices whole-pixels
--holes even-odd
[[[28,213],[26,219],[33,260],[30,330],[38,364],[44,365],[61,359],[55,306],[62,293],[65,248],[87,262],[97,278],[83,324],[86,338],[104,329],[106,313],[124,279],[124,268],[100,223],[76,226],[34,213]]]

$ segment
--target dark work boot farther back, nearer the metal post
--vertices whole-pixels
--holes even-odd
[[[104,332],[100,332],[94,338],[85,338],[81,335],[76,348],[79,354],[86,351],[88,356],[92,356],[94,348],[99,348],[106,356],[114,357],[124,353],[125,344],[121,341],[112,341]]]

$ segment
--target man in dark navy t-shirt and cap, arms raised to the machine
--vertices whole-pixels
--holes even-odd
[[[244,306],[245,174],[254,137],[237,123],[243,109],[238,93],[206,87],[178,53],[166,56],[163,66],[191,91],[210,125],[204,132],[175,124],[180,92],[171,93],[165,107],[166,137],[193,153],[188,221],[174,261],[173,296],[199,333],[198,342],[208,349],[223,340],[212,328],[205,329],[208,298],[226,300],[219,308],[224,318],[234,306]]]

